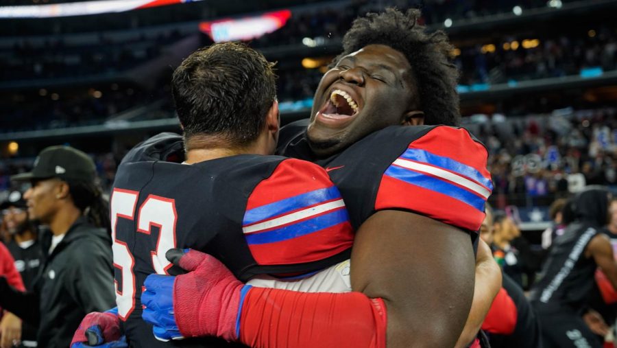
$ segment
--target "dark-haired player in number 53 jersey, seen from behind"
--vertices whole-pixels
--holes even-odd
[[[272,64],[261,54],[235,43],[200,49],[172,86],[184,137],[162,133],[133,148],[110,198],[117,315],[136,347],[167,346],[142,320],[140,296],[147,275],[178,274],[165,258],[170,248],[206,251],[247,281],[334,266],[349,259],[353,241],[322,167],[264,156],[274,153],[279,115]],[[73,343],[84,342],[78,331]],[[228,346],[219,338],[176,345]]]

